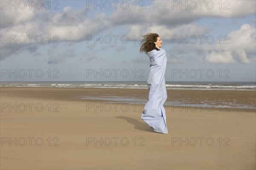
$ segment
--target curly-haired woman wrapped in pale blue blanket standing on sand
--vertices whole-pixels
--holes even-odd
[[[165,70],[166,51],[162,48],[162,40],[156,33],[148,33],[141,40],[140,52],[145,52],[150,59],[148,73],[148,102],[141,115],[142,120],[155,132],[167,134],[166,113],[163,107],[167,99]]]

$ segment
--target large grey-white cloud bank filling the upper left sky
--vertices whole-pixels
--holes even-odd
[[[105,28],[104,16],[105,14],[97,15],[93,20],[89,20],[85,8],[75,10],[66,7],[63,9],[63,12],[56,13],[51,13],[47,9],[35,9],[33,5],[32,9],[27,7],[25,10],[9,10],[9,7],[3,8],[0,15],[0,60],[20,53],[23,50],[31,49],[34,46],[39,47],[53,43],[54,40],[57,40],[57,43],[61,43],[62,41],[79,42],[86,40],[86,35],[97,34]],[[16,43],[14,40],[9,42],[9,36],[17,36]],[[39,36],[39,41],[41,41],[41,37],[43,40],[37,42],[37,36]],[[26,39],[24,42],[23,37]],[[61,61],[61,59],[59,60]],[[55,63],[58,62],[56,61]]]

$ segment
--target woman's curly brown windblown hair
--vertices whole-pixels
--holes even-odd
[[[157,37],[159,37],[157,33],[147,33],[146,35],[143,35],[143,38],[140,41],[141,42],[140,52],[147,53],[152,51],[156,46],[154,42],[157,41]]]

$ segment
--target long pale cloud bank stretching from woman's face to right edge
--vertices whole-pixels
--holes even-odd
[[[193,60],[209,63],[250,63],[256,59],[256,27],[244,24],[240,29],[231,31],[227,37],[222,36],[221,43],[216,39],[214,43],[182,43],[173,44],[169,50],[176,58],[192,55]],[[198,56],[195,58],[195,56]],[[189,61],[189,60],[183,60]]]

